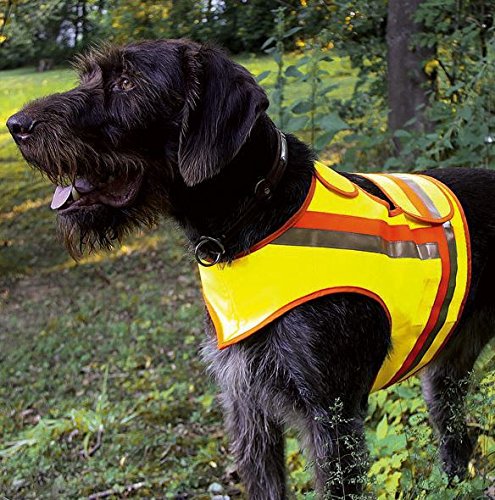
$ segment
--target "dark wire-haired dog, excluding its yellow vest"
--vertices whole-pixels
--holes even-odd
[[[57,185],[52,208],[73,257],[166,216],[202,265],[228,267],[304,204],[314,154],[277,130],[263,89],[221,50],[148,41],[94,49],[76,66],[76,88],[28,103],[7,122],[27,162]],[[463,477],[473,444],[464,423],[449,422],[463,411],[460,382],[493,335],[495,172],[426,174],[455,193],[469,226],[471,283],[462,315],[422,372],[444,470]],[[366,177],[343,178],[392,203]],[[319,494],[361,492],[363,419],[392,343],[378,301],[351,291],[314,297],[224,349],[207,314],[206,334],[203,356],[220,387],[249,498],[287,498],[286,425],[298,430],[315,464]]]

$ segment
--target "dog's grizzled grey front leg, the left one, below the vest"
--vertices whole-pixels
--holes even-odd
[[[286,377],[270,350],[272,337],[219,350],[208,319],[207,331],[203,359],[220,388],[229,445],[247,498],[285,500],[283,415],[277,408],[287,401],[275,387],[283,387]]]

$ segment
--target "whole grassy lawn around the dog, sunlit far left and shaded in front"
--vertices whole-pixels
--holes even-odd
[[[240,62],[254,73],[275,68],[267,58]],[[348,97],[348,63],[329,68],[340,82],[336,97]],[[0,73],[0,493],[208,499],[221,489],[244,498],[199,359],[203,306],[181,235],[162,222],[74,263],[48,208],[53,187],[27,168],[3,126],[24,102],[74,81],[65,69]],[[287,95],[304,91],[299,84]],[[479,378],[470,406],[480,438],[465,498],[495,468],[494,378]],[[371,400],[370,488],[381,498],[453,498],[418,395],[412,380]],[[287,461],[294,496],[312,498],[292,435]]]

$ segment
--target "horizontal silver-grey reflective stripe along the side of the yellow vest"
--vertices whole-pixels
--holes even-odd
[[[393,259],[430,260],[440,258],[438,245],[434,242],[388,241],[377,235],[324,229],[291,228],[272,241],[271,244],[357,250],[383,254]]]

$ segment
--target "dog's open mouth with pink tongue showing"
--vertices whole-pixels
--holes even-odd
[[[59,214],[96,205],[125,208],[136,199],[142,179],[143,176],[139,173],[111,176],[99,183],[77,177],[72,184],[56,187],[50,207]]]

